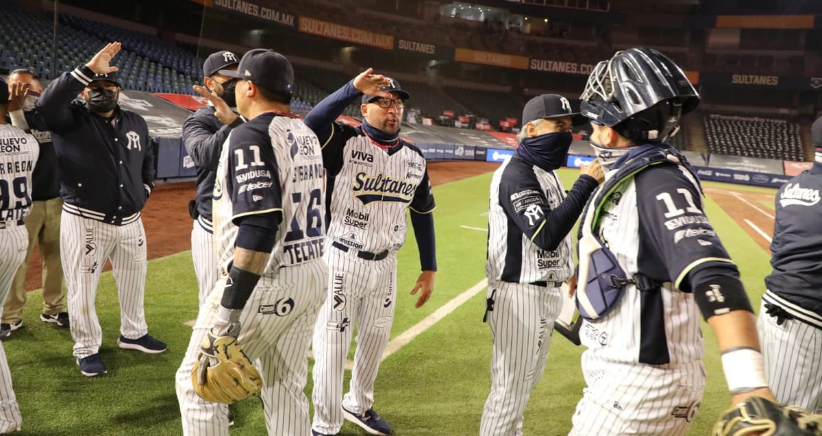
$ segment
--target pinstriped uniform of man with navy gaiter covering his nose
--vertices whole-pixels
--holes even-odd
[[[572,241],[566,233],[556,249],[544,250],[531,236],[543,226],[556,225],[546,212],[565,197],[553,171],[519,155],[494,172],[486,263],[487,321],[494,347],[482,435],[522,434],[525,406],[545,370],[554,321],[562,308],[560,286],[574,274]]]

